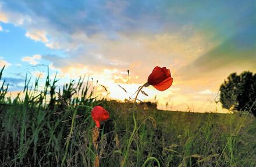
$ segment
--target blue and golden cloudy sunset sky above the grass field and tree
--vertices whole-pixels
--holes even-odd
[[[43,80],[48,66],[59,85],[86,75],[106,86],[102,96],[124,100],[160,66],[173,85],[144,88],[140,100],[227,112],[215,103],[219,86],[232,72],[256,72],[255,45],[255,1],[0,0],[0,67],[12,92],[26,74]]]

